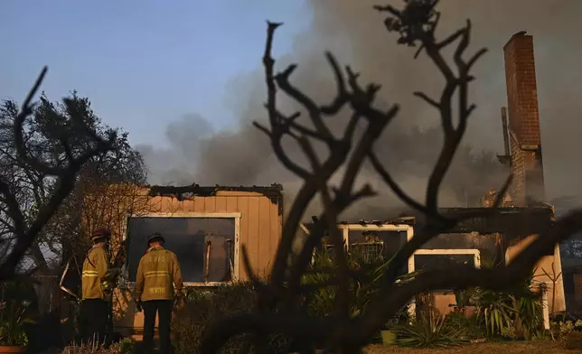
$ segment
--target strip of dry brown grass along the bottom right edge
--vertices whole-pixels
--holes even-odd
[[[451,349],[408,349],[372,345],[364,350],[366,354],[572,354],[562,344],[550,340],[535,340],[511,343],[471,344]]]

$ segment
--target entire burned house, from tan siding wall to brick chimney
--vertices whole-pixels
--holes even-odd
[[[503,117],[505,154],[500,162],[514,174],[512,189],[504,196],[502,208],[487,217],[465,219],[446,234],[437,236],[408,260],[401,273],[451,263],[481,266],[487,259],[509,263],[524,245],[551,227],[552,208],[543,203],[540,119],[536,97],[535,65],[531,36],[518,33],[504,48],[509,116]],[[509,121],[509,123],[508,123]],[[117,220],[117,238],[127,238],[124,279],[114,293],[115,326],[124,334],[138,334],[143,314],[132,300],[136,266],[146,251],[146,239],[161,232],[166,246],[178,256],[183,280],[188,285],[216,286],[247,280],[241,264],[241,247],[249,253],[251,267],[258,275],[268,275],[277,251],[283,224],[283,197],[279,185],[266,187],[136,187]],[[493,197],[494,192],[488,197]],[[139,200],[136,202],[136,200]],[[491,198],[487,198],[486,205]],[[484,207],[483,207],[484,208]],[[455,208],[441,212],[450,217],[478,209]],[[491,210],[490,210],[491,211]],[[365,216],[362,216],[365,217]],[[338,225],[348,250],[390,256],[414,237],[415,218]],[[309,232],[309,226],[303,230]],[[500,256],[501,255],[501,256]],[[553,265],[553,267],[552,267]],[[561,272],[559,248],[548,250],[535,268],[538,280],[549,285],[545,272]],[[555,284],[556,296],[546,299],[546,310],[563,311],[564,289]],[[436,292],[437,309],[446,313],[455,303],[452,289]],[[548,312],[546,311],[546,314]]]

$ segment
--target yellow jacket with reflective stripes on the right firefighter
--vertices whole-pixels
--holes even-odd
[[[183,286],[178,257],[164,247],[150,247],[137,266],[136,299],[172,300]]]

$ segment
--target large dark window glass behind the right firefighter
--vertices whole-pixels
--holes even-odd
[[[234,218],[129,218],[127,263],[129,281],[147,250],[147,238],[157,231],[164,247],[180,262],[184,283],[227,282],[234,268]]]

